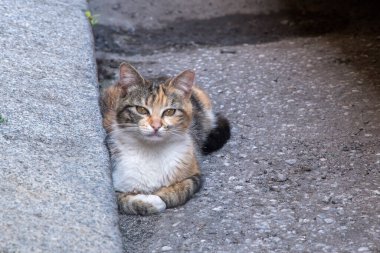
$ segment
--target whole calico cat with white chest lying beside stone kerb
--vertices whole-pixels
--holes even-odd
[[[200,154],[230,138],[228,120],[186,70],[157,83],[130,64],[102,92],[100,106],[122,213],[150,215],[187,202],[201,187]]]

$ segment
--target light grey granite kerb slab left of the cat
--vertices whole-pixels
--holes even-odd
[[[86,9],[0,2],[0,252],[121,252]]]

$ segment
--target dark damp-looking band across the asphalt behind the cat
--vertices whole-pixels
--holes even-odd
[[[137,29],[133,32],[99,25],[94,32],[99,51],[147,55],[165,50],[258,44],[286,37],[317,36],[341,30],[347,22],[345,16],[282,12],[183,20],[163,29]]]

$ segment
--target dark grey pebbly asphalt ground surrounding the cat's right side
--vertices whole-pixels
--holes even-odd
[[[120,215],[125,252],[380,252],[377,3],[102,2],[102,85],[192,68],[232,122],[187,204]]]

